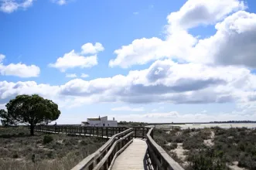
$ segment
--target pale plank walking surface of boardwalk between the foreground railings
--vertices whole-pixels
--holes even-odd
[[[113,170],[145,169],[144,158],[148,145],[142,139],[134,138],[131,145],[116,158]]]

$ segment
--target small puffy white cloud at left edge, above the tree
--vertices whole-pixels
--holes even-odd
[[[5,58],[4,55],[0,54],[0,74],[3,76],[19,76],[19,77],[33,77],[39,76],[40,69],[38,66],[30,65],[27,66],[23,63],[10,63],[4,65],[2,60]]]

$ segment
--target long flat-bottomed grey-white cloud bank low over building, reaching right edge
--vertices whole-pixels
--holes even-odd
[[[130,71],[127,76],[71,80],[60,87],[60,93],[90,97],[95,102],[226,103],[247,100],[245,92],[256,88],[255,80],[256,76],[245,68],[164,60],[147,70]]]

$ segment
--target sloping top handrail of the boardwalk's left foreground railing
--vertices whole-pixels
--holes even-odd
[[[71,170],[81,170],[81,169],[93,169],[99,162],[102,161],[102,158],[104,158],[105,155],[108,154],[108,150],[111,148],[113,143],[118,140],[118,138],[128,136],[128,134],[132,134],[132,129],[129,128],[126,131],[122,131],[121,133],[114,134],[101,148],[99,148],[97,151],[95,151],[93,154],[87,156],[87,158],[84,158],[83,161],[78,163],[75,167],[73,167]],[[131,136],[132,139],[132,136]],[[99,160],[101,159],[101,160]]]

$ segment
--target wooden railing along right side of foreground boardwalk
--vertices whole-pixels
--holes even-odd
[[[154,169],[184,170],[153,140],[153,128],[147,134],[148,155]]]

